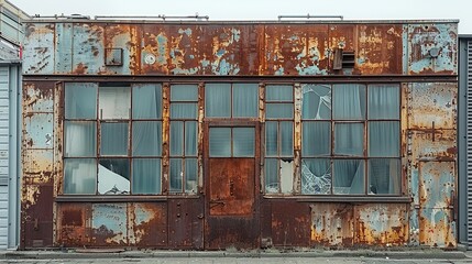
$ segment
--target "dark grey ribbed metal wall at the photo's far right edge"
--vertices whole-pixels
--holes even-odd
[[[472,246],[472,41],[466,50],[466,223],[468,244]]]

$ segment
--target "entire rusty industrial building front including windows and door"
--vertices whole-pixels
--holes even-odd
[[[458,21],[26,21],[21,249],[458,244]]]

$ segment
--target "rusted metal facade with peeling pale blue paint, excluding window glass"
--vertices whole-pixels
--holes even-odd
[[[457,25],[457,21],[28,22],[21,248],[454,249]],[[110,82],[162,88],[162,116],[155,119],[162,124],[155,195],[65,191],[66,87]],[[229,110],[228,118],[211,116],[208,98],[213,84],[227,84],[231,95],[239,84],[253,87],[255,113],[239,118]],[[370,193],[366,182],[358,195],[341,195],[337,191],[342,188],[336,186],[321,195],[306,188],[310,185],[304,170],[303,133],[309,120],[303,116],[304,94],[311,86],[338,84],[398,88],[398,117],[387,120],[399,131],[395,194]],[[195,91],[194,99],[174,98],[174,87],[182,85],[190,87],[189,97]],[[271,99],[270,90],[279,87],[290,87],[287,99]],[[173,117],[178,103],[195,106],[195,114]],[[288,116],[267,114],[288,105],[293,106]],[[174,153],[169,135],[178,122],[185,128],[196,123],[195,154]],[[337,125],[333,118],[326,123]],[[266,151],[270,125],[278,131],[281,145],[285,127],[293,140],[292,145],[274,148],[273,156]],[[240,141],[242,131],[252,138]],[[213,132],[230,135],[228,156],[210,154]],[[246,143],[250,154],[238,156],[237,146]],[[333,160],[334,168],[337,158],[343,157]],[[195,168],[187,167],[190,161]],[[266,175],[272,161],[277,170]],[[173,182],[173,166],[185,167],[179,174],[183,186]],[[278,185],[270,186],[270,177]]]

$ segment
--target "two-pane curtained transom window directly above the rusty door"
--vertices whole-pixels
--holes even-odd
[[[206,84],[206,118],[257,118],[257,84]]]

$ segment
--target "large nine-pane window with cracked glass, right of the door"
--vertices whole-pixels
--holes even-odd
[[[399,85],[304,85],[301,194],[399,195]]]

